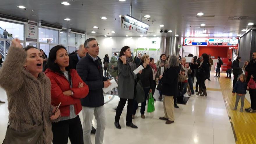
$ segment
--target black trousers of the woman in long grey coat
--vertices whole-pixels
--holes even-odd
[[[116,122],[119,122],[120,120],[120,116],[125,107],[126,101],[128,101],[127,112],[126,112],[126,123],[132,122],[131,114],[132,114],[132,108],[133,108],[133,99],[123,99],[123,98],[120,98],[119,104],[116,108],[116,113],[115,113]]]

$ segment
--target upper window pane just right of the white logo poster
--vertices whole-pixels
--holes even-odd
[[[47,42],[50,40],[51,43],[58,43],[58,31],[52,29],[38,28],[39,42]]]

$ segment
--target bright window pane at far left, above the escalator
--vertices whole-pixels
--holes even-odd
[[[6,32],[4,33],[5,29]],[[7,33],[13,34],[13,37],[9,38]],[[16,24],[0,20],[0,38],[18,38],[19,40],[24,40],[24,24]]]

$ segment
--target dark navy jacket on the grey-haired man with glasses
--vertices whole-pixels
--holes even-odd
[[[104,105],[103,90],[107,78],[103,77],[102,62],[93,61],[93,58],[87,53],[85,57],[77,63],[77,73],[82,80],[89,86],[88,95],[81,99],[82,106],[99,107]]]

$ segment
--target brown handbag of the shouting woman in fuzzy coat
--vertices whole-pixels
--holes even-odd
[[[43,125],[27,131],[15,131],[8,125],[3,144],[44,144]]]

